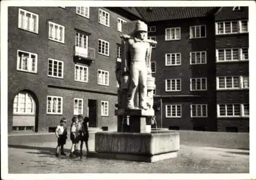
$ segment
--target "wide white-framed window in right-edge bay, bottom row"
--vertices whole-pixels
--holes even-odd
[[[218,117],[248,117],[249,104],[217,104]]]

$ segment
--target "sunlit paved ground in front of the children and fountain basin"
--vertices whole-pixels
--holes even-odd
[[[178,157],[155,163],[55,158],[56,143],[9,145],[9,173],[249,173],[249,150],[181,145]],[[69,152],[70,143],[65,146]]]

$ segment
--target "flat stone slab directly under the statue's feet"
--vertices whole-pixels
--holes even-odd
[[[155,116],[155,111],[143,109],[116,109],[115,116]]]

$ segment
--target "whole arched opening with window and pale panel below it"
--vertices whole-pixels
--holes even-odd
[[[26,91],[17,94],[13,101],[13,132],[33,132],[36,122],[36,104]]]

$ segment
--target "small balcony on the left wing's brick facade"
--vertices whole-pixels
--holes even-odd
[[[91,63],[95,61],[95,49],[94,48],[81,48],[74,46],[75,60],[84,63]]]

